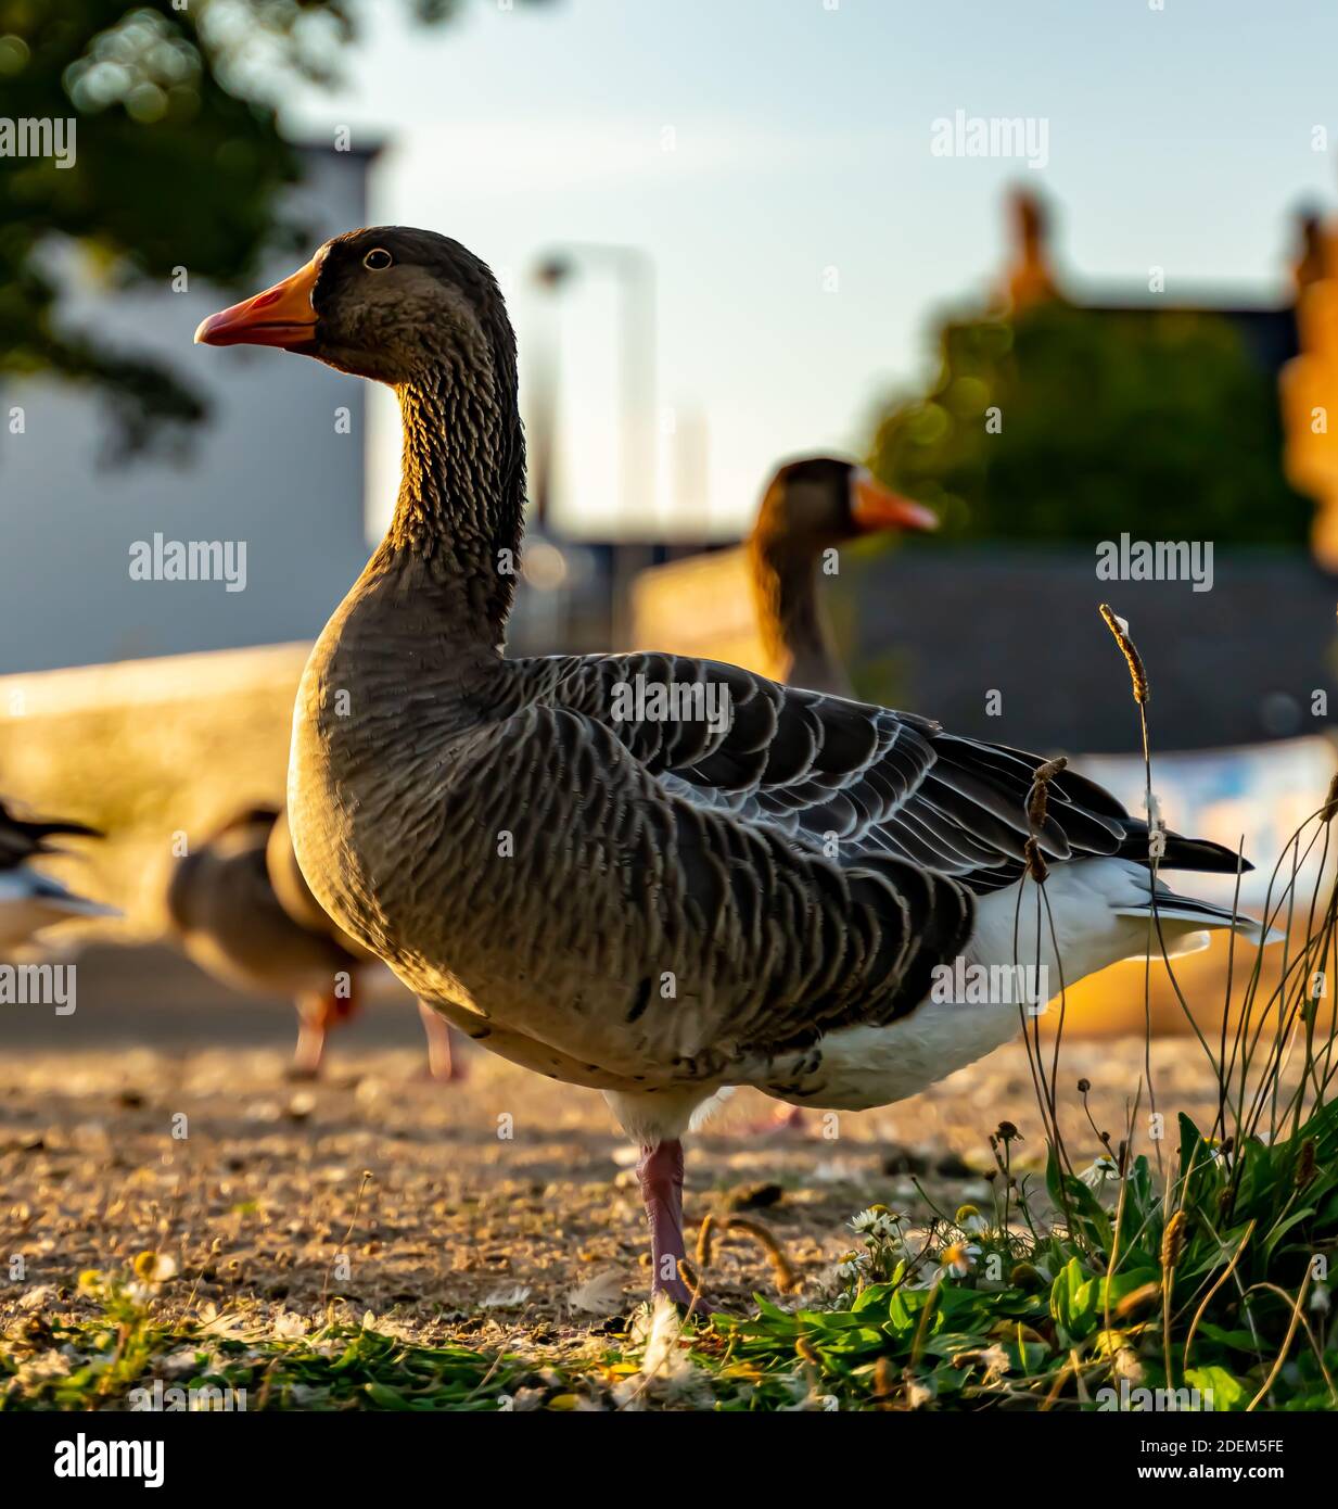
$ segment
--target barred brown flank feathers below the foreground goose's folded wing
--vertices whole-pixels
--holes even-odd
[[[656,1064],[720,1080],[748,1055],[802,1055],[825,1031],[910,1013],[965,946],[973,901],[956,880],[796,842],[674,776],[662,751],[634,751],[628,732],[526,697],[451,762],[445,842],[505,830],[523,845],[523,865],[487,871],[489,914],[508,916],[510,967],[548,981],[551,1041],[582,1035],[585,1058],[632,1077]],[[561,966],[555,916],[581,940]]]

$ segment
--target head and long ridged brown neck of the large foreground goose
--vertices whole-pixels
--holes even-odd
[[[395,389],[404,453],[385,548],[451,595],[460,637],[495,650],[523,530],[525,436],[516,338],[489,267],[433,231],[348,231],[195,340],[273,346]]]

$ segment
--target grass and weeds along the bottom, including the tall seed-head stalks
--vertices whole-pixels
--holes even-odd
[[[1124,626],[1107,622],[1130,664],[1155,828],[1146,673]],[[1029,812],[1039,830],[1044,779]],[[1027,1166],[1033,1150],[1000,1123],[991,1209],[937,1210],[926,1197],[932,1215],[916,1230],[882,1206],[860,1212],[819,1302],[759,1295],[753,1314],[686,1322],[662,1305],[546,1351],[523,1338],[475,1351],[425,1346],[394,1322],[358,1325],[335,1307],[315,1326],[287,1317],[282,1334],[189,1301],[169,1314],[163,1260],[145,1252],[130,1274],[83,1275],[80,1314],[30,1316],[0,1338],[0,1409],[124,1408],[155,1378],[244,1390],[249,1409],[1338,1408],[1338,997],[1327,985],[1338,886],[1321,889],[1335,813],[1338,782],[1270,880],[1266,916],[1287,942],[1249,960],[1232,943],[1211,1032],[1180,996],[1217,1085],[1210,1126],[1168,1118],[1148,1064],[1119,1139],[1089,1117],[1088,1157],[1074,1159],[1057,1114],[1060,993],[1053,1040],[1035,1023],[1029,1038],[1044,1157]],[[1308,863],[1315,881],[1302,893]],[[1039,930],[1042,862],[1032,878]],[[1154,914],[1149,955],[1165,958],[1160,934]],[[1174,963],[1165,967],[1174,979]],[[1086,1108],[1083,1082],[1077,1093]],[[784,1293],[784,1255],[766,1228],[730,1224],[768,1249]],[[707,1219],[695,1263],[704,1289],[712,1237]],[[686,1268],[685,1278],[698,1283]]]

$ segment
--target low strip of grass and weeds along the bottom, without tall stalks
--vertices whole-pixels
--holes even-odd
[[[87,1317],[30,1317],[6,1338],[0,1408],[127,1408],[154,1378],[243,1390],[247,1409],[1063,1411],[1152,1400],[1139,1390],[1180,1408],[1338,1405],[1333,1326],[1314,1307],[1315,1255],[1338,1246],[1338,1106],[1235,1148],[1181,1120],[1165,1186],[1146,1156],[1066,1174],[1054,1150],[1044,1179],[1015,1177],[1006,1127],[994,1145],[994,1212],[964,1206],[920,1233],[860,1213],[821,1307],[757,1296],[753,1316],[682,1328],[664,1310],[575,1354],[424,1346],[333,1313],[284,1335],[211,1307],[163,1319],[143,1254],[139,1275],[83,1275]],[[1045,1228],[1042,1200],[1068,1221]]]

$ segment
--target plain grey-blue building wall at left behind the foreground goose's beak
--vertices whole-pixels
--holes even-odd
[[[317,238],[367,222],[368,158],[303,152],[294,208]],[[170,214],[170,205],[163,207]],[[282,257],[265,287],[303,255]],[[87,321],[127,352],[169,358],[210,416],[183,463],[106,462],[109,420],[92,395],[53,383],[0,392],[0,673],[314,637],[362,569],[365,383],[287,352],[192,344],[240,294],[125,296],[80,287]],[[24,409],[23,435],[9,410]],[[335,433],[347,406],[351,433]],[[246,540],[244,592],[222,582],[131,581],[130,546]]]

